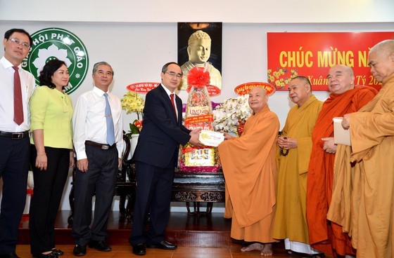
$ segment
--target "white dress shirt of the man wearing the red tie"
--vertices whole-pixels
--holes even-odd
[[[13,64],[0,60],[0,131],[8,133],[24,132],[30,129],[29,100],[36,86],[34,76],[19,65],[20,87],[23,99],[23,123],[18,125],[13,121]]]

